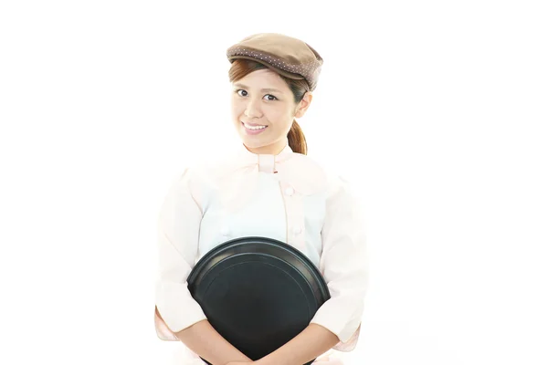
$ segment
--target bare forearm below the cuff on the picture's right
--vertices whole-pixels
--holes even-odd
[[[288,343],[256,361],[257,365],[300,365],[332,349],[339,338],[327,328],[311,323]]]

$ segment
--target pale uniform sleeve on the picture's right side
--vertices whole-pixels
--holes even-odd
[[[340,342],[333,349],[351,351],[359,337],[368,282],[364,221],[350,185],[342,179],[334,185],[326,201],[320,257],[331,298],[311,323],[337,335]]]

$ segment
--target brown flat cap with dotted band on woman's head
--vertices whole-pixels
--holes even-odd
[[[279,33],[259,33],[242,39],[227,49],[230,63],[237,58],[252,59],[286,78],[306,79],[316,89],[323,59],[300,39]]]

